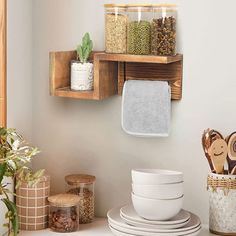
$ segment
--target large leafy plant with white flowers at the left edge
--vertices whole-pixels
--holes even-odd
[[[8,223],[4,226],[8,228],[8,235],[18,234],[19,222],[16,205],[11,201],[14,193],[9,190],[9,184],[5,183],[4,177],[15,179],[16,187],[23,181],[36,184],[44,171],[33,173],[27,165],[38,152],[37,148],[28,146],[14,129],[0,128],[0,195],[1,201],[7,207],[5,217]]]

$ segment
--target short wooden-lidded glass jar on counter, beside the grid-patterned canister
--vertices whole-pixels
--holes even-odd
[[[58,194],[48,198],[49,228],[59,233],[75,232],[79,228],[79,196]]]

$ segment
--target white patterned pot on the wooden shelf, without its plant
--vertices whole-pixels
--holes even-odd
[[[93,90],[93,63],[71,62],[71,89]]]

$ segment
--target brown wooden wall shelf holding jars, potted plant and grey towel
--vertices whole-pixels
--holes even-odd
[[[172,99],[182,97],[183,55],[173,57],[92,53],[94,90],[70,89],[70,62],[75,51],[50,53],[50,93],[52,96],[101,100],[122,94],[126,80],[162,80],[171,86]]]

